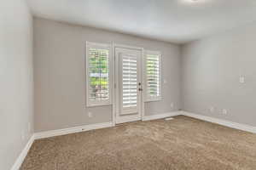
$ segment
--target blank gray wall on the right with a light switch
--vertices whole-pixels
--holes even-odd
[[[256,24],[184,45],[183,110],[256,126],[255,64]]]

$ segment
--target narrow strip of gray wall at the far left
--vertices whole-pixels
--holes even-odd
[[[32,125],[32,16],[24,0],[5,0],[0,2],[0,169],[15,163]]]

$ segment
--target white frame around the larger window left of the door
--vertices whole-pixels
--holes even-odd
[[[109,98],[105,101],[91,101],[89,99],[89,88],[90,88],[90,48],[101,48],[101,49],[108,49],[108,95]],[[103,105],[112,105],[112,81],[113,81],[113,52],[112,52],[112,44],[110,43],[98,43],[98,42],[86,42],[85,43],[85,85],[86,85],[86,106],[87,107],[94,107],[94,106],[103,106]]]

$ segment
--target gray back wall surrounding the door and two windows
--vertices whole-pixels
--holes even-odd
[[[146,115],[180,108],[180,48],[166,42],[34,18],[35,131],[112,122],[112,106],[85,107],[84,42],[116,42],[160,50],[163,100]],[[174,103],[174,109],[171,103]],[[93,117],[88,117],[88,111]]]

